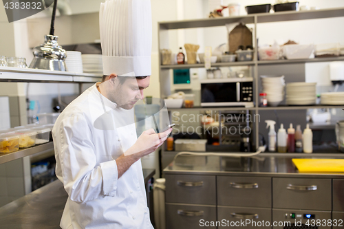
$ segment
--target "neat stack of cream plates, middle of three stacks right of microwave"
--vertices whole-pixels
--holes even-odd
[[[314,105],[316,83],[287,83],[287,105]]]

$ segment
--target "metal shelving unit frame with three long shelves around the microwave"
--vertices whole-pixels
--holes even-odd
[[[249,14],[238,17],[225,17],[217,19],[196,19],[185,21],[163,21],[158,23],[158,42],[159,49],[169,48],[169,30],[189,29],[189,28],[208,28],[215,26],[224,26],[228,23],[243,22],[246,24],[254,24],[253,41],[257,41],[257,24],[270,23],[279,21],[297,21],[308,19],[325,19],[332,17],[344,17],[344,8],[330,8],[324,10],[308,10],[308,11],[286,11],[264,14]],[[277,60],[277,61],[257,61],[257,48],[255,48],[253,61],[248,62],[232,62],[232,63],[213,63],[212,67],[231,67],[231,66],[252,66],[254,75],[254,88],[255,88],[255,107],[194,107],[188,110],[205,111],[209,109],[214,110],[227,110],[227,111],[242,111],[250,110],[259,115],[259,111],[269,110],[299,110],[299,109],[320,109],[320,108],[342,108],[343,106],[332,105],[312,105],[312,106],[279,106],[279,107],[258,107],[258,66],[259,65],[281,65],[293,63],[315,63],[325,61],[344,61],[344,56],[330,57],[330,58],[310,58],[310,59],[297,59],[297,60]],[[161,56],[159,55],[159,63],[161,63]],[[170,70],[171,69],[187,69],[187,68],[201,68],[204,64],[195,65],[161,65],[160,64],[160,96],[166,98],[171,93],[170,87]],[[186,111],[186,108],[169,109],[169,111]],[[259,123],[255,122],[255,144],[258,145],[259,139]],[[162,147],[164,149],[164,147]],[[164,151],[164,150],[163,150]],[[269,154],[270,155],[270,154]],[[319,155],[319,154],[318,154]]]

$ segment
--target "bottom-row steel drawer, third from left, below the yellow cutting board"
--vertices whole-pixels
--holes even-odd
[[[294,214],[292,219],[290,214]],[[307,219],[304,215],[312,215],[314,219]],[[288,215],[288,217],[286,217]],[[331,212],[320,210],[290,210],[272,209],[272,228],[273,229],[331,229]],[[318,225],[316,225],[318,223]],[[320,224],[319,224],[320,223]]]

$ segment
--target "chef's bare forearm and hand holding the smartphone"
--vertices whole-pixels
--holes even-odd
[[[141,157],[149,155],[156,151],[166,141],[172,128],[162,133],[155,133],[153,129],[143,131],[135,144],[131,146],[123,155],[116,159],[118,178],[128,170],[131,164],[135,163]]]

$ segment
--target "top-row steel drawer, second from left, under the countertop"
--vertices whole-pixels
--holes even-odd
[[[271,208],[271,178],[217,176],[217,205]]]

